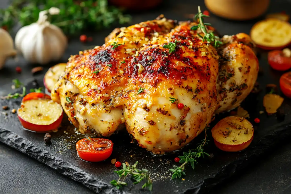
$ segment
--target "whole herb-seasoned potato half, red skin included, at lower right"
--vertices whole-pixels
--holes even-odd
[[[253,140],[253,125],[243,117],[221,119],[211,130],[216,147],[226,152],[246,149]]]

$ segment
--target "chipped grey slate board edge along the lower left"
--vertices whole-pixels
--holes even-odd
[[[57,170],[61,174],[83,184],[92,191],[100,194],[124,194],[125,192],[117,190],[111,184],[98,180],[95,176],[71,165],[67,161],[49,153],[45,149],[38,147],[29,140],[19,137],[14,132],[0,128],[0,141],[19,150],[20,152],[31,156],[34,159]]]

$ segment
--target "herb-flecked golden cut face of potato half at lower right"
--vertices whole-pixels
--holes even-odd
[[[239,145],[253,136],[253,125],[242,117],[232,116],[220,120],[211,130],[212,137],[221,144]]]

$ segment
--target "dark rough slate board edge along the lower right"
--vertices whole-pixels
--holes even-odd
[[[222,183],[225,179],[231,177],[236,171],[245,168],[253,160],[257,159],[267,150],[274,147],[276,144],[282,143],[289,136],[291,136],[291,123],[290,121],[276,124],[269,128],[269,133],[260,137],[260,140],[251,145],[251,150],[239,157],[239,159],[228,163],[223,166],[217,173],[214,173],[212,177],[204,179],[200,183],[191,188],[187,188],[182,193],[194,193],[203,194],[210,191],[215,185]]]

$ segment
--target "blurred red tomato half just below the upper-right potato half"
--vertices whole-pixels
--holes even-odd
[[[268,62],[274,70],[286,71],[291,68],[291,57],[287,57],[282,51],[270,51]]]

